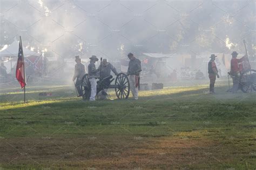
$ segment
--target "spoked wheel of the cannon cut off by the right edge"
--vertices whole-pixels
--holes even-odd
[[[252,74],[255,73],[256,70],[250,70],[242,74],[242,76],[252,77]],[[241,76],[241,77],[242,77]],[[253,91],[256,91],[256,81],[253,79],[250,79],[246,82],[241,82],[240,78],[240,85],[241,85],[241,91],[244,93],[252,93]]]

